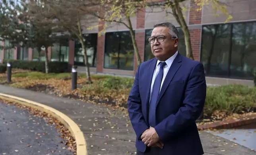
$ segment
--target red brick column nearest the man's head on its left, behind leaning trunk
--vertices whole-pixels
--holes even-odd
[[[138,11],[136,16],[135,40],[139,49],[140,59],[144,61],[145,50],[145,8]],[[134,74],[138,68],[136,54],[134,53]]]

